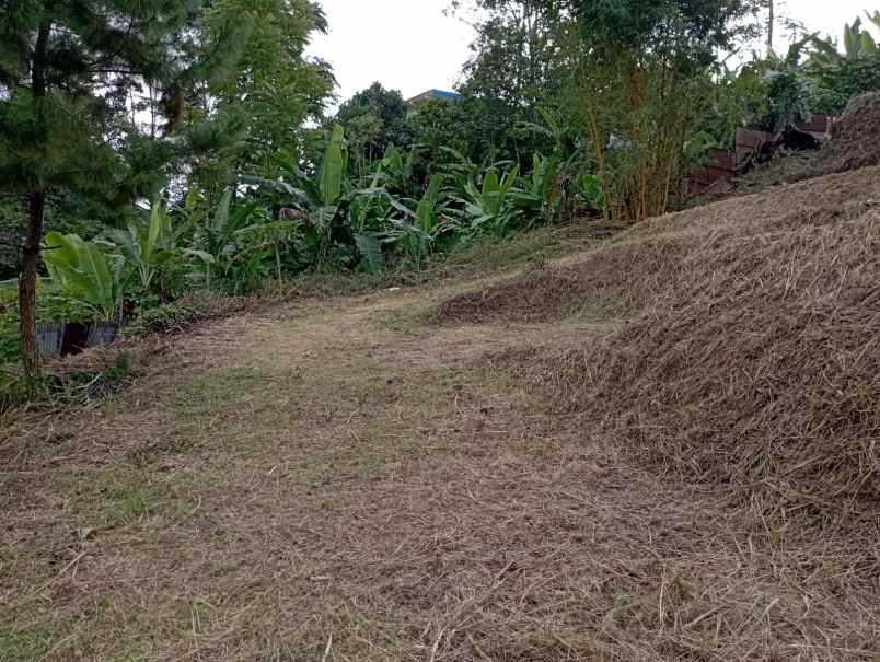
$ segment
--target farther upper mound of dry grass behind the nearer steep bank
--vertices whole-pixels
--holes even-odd
[[[879,196],[880,171],[866,169],[668,214],[593,248],[577,264],[535,269],[453,297],[429,321],[455,325],[628,317],[661,305],[659,295],[688,277],[682,265],[706,242],[742,242],[838,223],[880,208]]]

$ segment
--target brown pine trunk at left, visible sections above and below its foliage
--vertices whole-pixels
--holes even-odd
[[[51,24],[43,21],[34,48],[33,92],[36,104],[36,135],[46,141],[46,58]],[[43,239],[43,218],[46,211],[46,193],[42,187],[31,191],[27,199],[27,235],[24,243],[24,266],[19,279],[19,318],[22,365],[28,378],[39,376],[39,352],[36,344],[36,279],[39,267],[39,244]]]

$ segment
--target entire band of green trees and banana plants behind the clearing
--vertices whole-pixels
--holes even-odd
[[[762,4],[452,2],[476,30],[459,101],[408,106],[375,83],[333,117],[311,0],[13,4],[0,346],[36,374],[37,321],[153,328],[194,289],[378,277],[482,235],[661,213],[737,127],[781,130],[880,88],[880,12],[841,43],[792,34],[748,58]]]

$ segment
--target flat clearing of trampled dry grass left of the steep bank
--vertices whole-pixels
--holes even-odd
[[[871,659],[784,541],[490,360],[605,326],[422,324],[439,294],[229,321],[20,430],[0,659]]]

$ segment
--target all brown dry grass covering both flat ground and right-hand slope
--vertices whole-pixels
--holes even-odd
[[[834,478],[876,479],[880,185],[849,177],[564,260],[552,323],[424,324],[462,284],[282,306],[21,413],[0,659],[877,660],[876,483]]]

